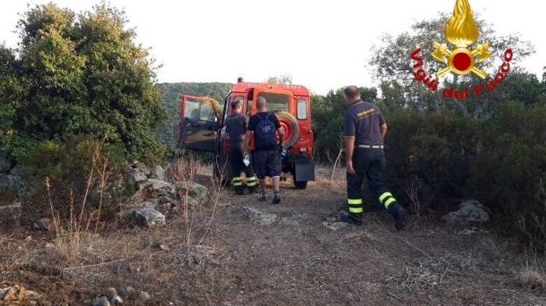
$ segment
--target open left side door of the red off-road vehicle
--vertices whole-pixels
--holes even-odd
[[[218,134],[219,104],[209,97],[182,96],[178,147],[214,152]]]

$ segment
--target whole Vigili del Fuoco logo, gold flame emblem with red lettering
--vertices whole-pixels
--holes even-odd
[[[445,43],[433,43],[433,52],[430,53],[435,60],[445,65],[444,68],[435,72],[435,76],[430,76],[423,69],[423,58],[420,57],[421,48],[414,50],[410,57],[414,61],[414,78],[432,92],[438,90],[438,80],[442,76],[451,73],[459,76],[472,74],[480,79],[485,79],[487,73],[479,68],[479,64],[489,60],[491,52],[489,43],[476,45],[479,33],[474,22],[472,9],[468,0],[456,0],[453,16],[445,28],[445,38],[453,46],[450,49]],[[493,91],[497,85],[504,81],[505,75],[510,71],[510,62],[513,52],[507,48],[504,52],[503,64],[500,65],[498,73],[487,83],[479,83],[472,88],[445,88],[442,90],[442,96],[447,99],[469,99],[470,95],[480,97],[484,90]]]

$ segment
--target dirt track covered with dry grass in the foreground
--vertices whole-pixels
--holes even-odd
[[[191,231],[180,216],[158,230],[120,226],[83,239],[77,263],[44,247],[48,233],[3,233],[1,280],[52,305],[90,305],[127,286],[151,293],[128,305],[546,305],[517,281],[507,242],[486,232],[458,235],[430,216],[398,233],[383,211],[362,227],[325,227],[345,201],[343,181],[332,188],[325,177],[303,191],[284,182],[276,206],[224,190],[220,206],[193,214]],[[280,222],[253,224],[237,214],[243,206]],[[63,272],[97,262],[106,264]]]

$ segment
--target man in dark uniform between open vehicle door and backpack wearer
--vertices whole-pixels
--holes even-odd
[[[248,117],[241,114],[241,101],[231,102],[231,113],[225,121],[225,130],[230,137],[230,165],[232,185],[237,195],[244,194],[244,186],[241,178],[241,172],[246,175],[246,186],[250,193],[255,193],[256,176],[252,168],[251,158],[248,156],[248,143],[245,140]],[[248,165],[245,165],[244,160]]]

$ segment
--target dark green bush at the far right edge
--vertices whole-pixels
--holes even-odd
[[[470,170],[469,192],[493,209],[496,227],[528,242],[546,238],[545,118],[546,104],[498,107]]]

